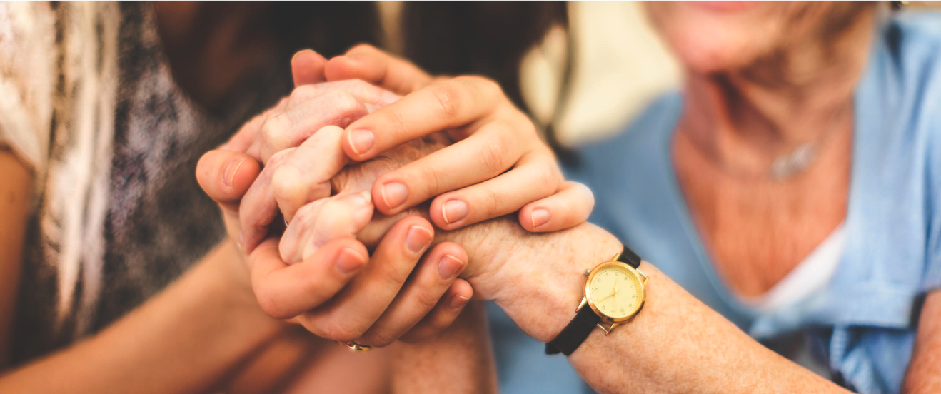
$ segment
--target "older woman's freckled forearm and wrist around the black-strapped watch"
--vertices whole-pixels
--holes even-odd
[[[527,237],[500,252],[507,262],[496,301],[524,331],[549,341],[575,316],[584,270],[611,260],[621,244],[588,224]],[[609,336],[593,331],[569,356],[598,391],[847,392],[750,339],[649,263],[640,269],[649,281],[637,317]]]

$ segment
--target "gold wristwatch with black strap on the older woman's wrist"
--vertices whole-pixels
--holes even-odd
[[[582,304],[558,337],[546,344],[546,354],[571,355],[595,327],[608,335],[618,324],[637,316],[644,307],[647,281],[647,276],[637,268],[640,265],[641,258],[624,246],[611,261],[585,270],[587,279]]]

